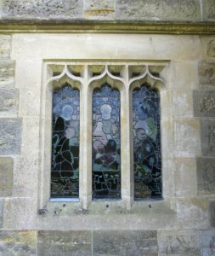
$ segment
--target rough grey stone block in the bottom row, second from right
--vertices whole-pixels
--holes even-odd
[[[160,231],[158,232],[159,255],[201,255],[200,232]]]

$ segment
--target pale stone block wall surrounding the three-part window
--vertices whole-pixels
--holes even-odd
[[[215,2],[1,1],[0,255],[214,255],[214,34],[176,35],[177,28],[173,35],[32,32],[32,26],[59,20],[174,27],[203,22],[211,29]],[[13,31],[16,24],[31,29]],[[86,208],[43,203],[41,109],[48,61],[165,62],[163,201],[130,207],[105,201]]]

